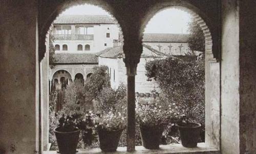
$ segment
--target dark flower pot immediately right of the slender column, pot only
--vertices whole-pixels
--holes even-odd
[[[140,125],[142,146],[147,149],[159,149],[162,133],[163,126],[150,127]]]

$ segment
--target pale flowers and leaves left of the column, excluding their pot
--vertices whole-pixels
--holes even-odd
[[[96,116],[94,124],[97,129],[119,131],[125,129],[126,118],[120,112],[110,111],[108,114]]]

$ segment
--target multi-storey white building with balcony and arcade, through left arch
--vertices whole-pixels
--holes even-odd
[[[95,53],[113,47],[119,39],[116,21],[106,15],[63,15],[53,23],[55,66],[49,71],[52,86],[76,78],[87,80],[98,65]]]

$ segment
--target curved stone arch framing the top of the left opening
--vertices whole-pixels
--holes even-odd
[[[45,52],[46,52],[46,44],[47,44],[47,36],[50,33],[51,25],[53,21],[56,19],[56,17],[61,14],[63,11],[66,9],[73,7],[73,6],[78,6],[78,5],[83,5],[83,4],[88,4],[88,5],[94,5],[98,6],[101,9],[105,10],[108,12],[111,17],[115,19],[116,24],[118,25],[118,28],[120,30],[120,35],[119,35],[119,41],[121,44],[123,44],[123,35],[122,35],[122,24],[119,24],[120,21],[120,16],[116,12],[115,8],[111,3],[108,3],[105,0],[89,0],[89,1],[84,1],[84,0],[76,0],[76,1],[63,1],[59,3],[58,6],[54,10],[51,10],[51,13],[47,17],[45,23],[41,23],[40,27],[40,32],[39,32],[39,42],[46,42],[46,43],[39,43],[39,61],[41,61],[45,57]]]

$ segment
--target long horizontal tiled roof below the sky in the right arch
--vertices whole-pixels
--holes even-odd
[[[142,42],[187,42],[189,35],[144,33]]]

